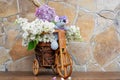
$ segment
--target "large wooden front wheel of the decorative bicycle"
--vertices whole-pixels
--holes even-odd
[[[57,71],[64,79],[68,78],[72,73],[72,59],[68,52],[57,55]],[[62,58],[62,59],[61,59]],[[63,64],[63,66],[62,66]]]

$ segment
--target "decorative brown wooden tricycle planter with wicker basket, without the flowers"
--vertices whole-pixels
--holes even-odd
[[[72,73],[72,59],[66,50],[65,31],[56,30],[54,33],[58,35],[59,48],[54,51],[50,48],[50,43],[40,42],[35,48],[33,74],[38,75],[41,67],[51,68],[66,79]]]

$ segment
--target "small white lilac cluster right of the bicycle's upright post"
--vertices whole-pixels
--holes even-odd
[[[69,26],[68,30],[66,31],[66,38],[67,41],[80,41],[82,39],[80,35],[79,27],[76,26]]]

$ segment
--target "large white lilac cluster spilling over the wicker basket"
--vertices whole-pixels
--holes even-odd
[[[39,19],[28,22],[25,18],[19,18],[17,19],[17,23],[22,26],[23,46],[27,46],[32,40],[38,40],[39,42],[52,42],[55,39],[53,35],[55,24],[52,22]]]

